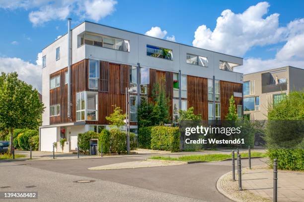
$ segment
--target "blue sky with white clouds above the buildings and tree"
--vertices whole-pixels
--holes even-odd
[[[66,17],[241,56],[239,72],[304,68],[303,8],[303,0],[0,0],[0,71],[18,71],[40,90],[27,74],[41,75],[37,54],[67,32]]]

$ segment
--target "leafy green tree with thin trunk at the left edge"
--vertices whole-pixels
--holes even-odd
[[[41,124],[44,105],[38,91],[18,79],[16,72],[0,76],[0,128],[10,132],[10,153],[12,152],[15,128],[37,129]]]

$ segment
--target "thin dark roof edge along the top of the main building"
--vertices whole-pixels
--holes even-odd
[[[80,24],[78,24],[76,27],[80,26],[81,24],[83,24],[83,23],[85,23],[85,22],[87,22],[87,23],[92,23],[92,24],[96,24],[96,25],[100,25],[100,26],[105,26],[105,27],[109,27],[109,28],[112,28],[112,29],[117,29],[117,30],[121,30],[121,31],[133,33],[133,34],[138,34],[138,35],[142,35],[142,36],[146,36],[146,37],[150,37],[150,38],[154,38],[154,39],[158,39],[158,40],[162,40],[162,41],[166,41],[166,42],[170,42],[170,43],[174,43],[174,44],[178,44],[178,45],[182,45],[182,46],[187,46],[187,47],[191,47],[191,48],[195,48],[195,49],[207,50],[207,49],[202,49],[202,48],[198,48],[198,47],[194,47],[194,46],[190,46],[190,45],[186,45],[186,44],[181,44],[181,43],[178,43],[178,42],[172,42],[172,41],[165,40],[165,39],[159,39],[159,38],[157,38],[157,37],[151,37],[151,36],[148,36],[148,35],[145,35],[145,34],[140,34],[140,33],[132,32],[132,31],[128,31],[128,30],[124,30],[124,29],[112,27],[112,26],[109,26],[109,25],[103,25],[103,24],[99,24],[99,23],[96,23],[96,22],[90,22],[90,21],[87,21],[87,20],[84,20],[83,22],[81,22]],[[76,27],[74,27],[72,30],[74,30]],[[65,33],[65,34],[62,35],[60,38],[62,38],[62,37],[65,36],[66,34],[68,34],[68,33]],[[46,46],[46,47],[43,48],[42,50],[44,50],[44,49],[46,49],[47,47],[51,46],[53,43],[55,43],[55,42],[56,42],[57,40],[59,40],[60,38],[56,39],[54,42],[52,42],[51,44],[49,44],[48,46]],[[214,51],[214,50],[207,50],[207,51],[211,51],[211,52],[215,52],[215,53],[224,54],[224,55],[228,55],[228,56],[231,56],[231,57],[237,57],[237,58],[243,59],[242,57],[233,56],[233,55],[229,55],[229,54],[226,54],[226,53],[217,52],[217,51]]]

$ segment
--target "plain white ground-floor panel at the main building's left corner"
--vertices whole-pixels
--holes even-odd
[[[40,151],[53,152],[53,143],[57,142],[57,127],[40,129]]]

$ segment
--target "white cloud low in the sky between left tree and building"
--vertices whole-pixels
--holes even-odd
[[[0,72],[18,73],[18,78],[41,92],[41,65],[32,64],[17,57],[0,57]]]

